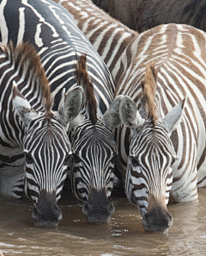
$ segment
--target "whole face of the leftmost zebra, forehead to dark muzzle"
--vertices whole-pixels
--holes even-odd
[[[57,226],[62,219],[61,197],[70,158],[64,126],[53,116],[33,122],[24,140],[25,192],[33,200],[35,226]],[[48,217],[49,216],[49,217]]]

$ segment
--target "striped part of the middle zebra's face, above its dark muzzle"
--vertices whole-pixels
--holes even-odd
[[[83,150],[82,145],[87,150]],[[82,127],[76,129],[72,150],[74,159],[71,180],[72,184],[76,184],[73,185],[76,198],[87,201],[91,188],[99,191],[106,189],[106,196],[110,197],[117,154],[110,130],[103,129],[100,121],[95,126],[89,120],[84,122]]]

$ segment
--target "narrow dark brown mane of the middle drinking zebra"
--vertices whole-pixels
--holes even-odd
[[[94,125],[97,122],[97,102],[94,97],[94,85],[91,83],[87,71],[87,56],[82,54],[76,66],[77,83],[82,85],[84,91],[84,106],[88,111],[89,119]]]

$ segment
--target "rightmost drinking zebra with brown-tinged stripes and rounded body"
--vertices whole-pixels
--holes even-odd
[[[146,230],[172,224],[166,206],[170,195],[176,202],[197,200],[197,187],[205,186],[205,42],[206,34],[197,28],[161,25],[131,41],[122,56],[128,62],[115,95],[130,99],[119,105],[124,126],[118,128],[118,171]],[[145,66],[151,65],[157,74],[150,71],[149,80]],[[145,114],[143,79],[148,88],[156,86],[154,96],[150,92],[156,125]]]

